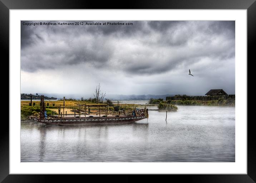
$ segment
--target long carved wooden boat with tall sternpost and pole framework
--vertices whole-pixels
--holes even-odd
[[[64,108],[78,108],[79,114],[64,115]],[[44,96],[41,95],[40,102],[40,117],[31,116],[30,119],[52,125],[93,125],[93,124],[122,124],[132,123],[148,118],[148,109],[134,108],[131,114],[124,115],[108,115],[108,104],[78,104],[77,106],[59,106],[58,115],[46,115]],[[63,109],[63,115],[60,115],[60,110]],[[90,109],[98,109],[99,114],[90,115]],[[105,110],[105,115],[100,116],[100,110]],[[84,111],[80,114],[80,111]],[[88,116],[87,116],[88,114]]]

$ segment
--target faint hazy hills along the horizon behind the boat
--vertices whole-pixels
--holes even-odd
[[[35,95],[35,94],[33,94]],[[56,94],[56,93],[38,93],[39,99],[40,95],[45,95],[48,96],[48,98],[53,97],[56,99],[63,99],[63,96],[65,96],[66,99],[73,98],[73,99],[81,99],[83,97],[84,99],[87,98],[94,98],[93,96],[83,96],[79,94]],[[30,99],[30,94],[27,94],[26,96],[29,96],[28,99]],[[173,94],[166,94],[166,95],[114,95],[114,94],[109,94],[106,95],[105,99],[110,99],[110,100],[149,100],[151,98],[153,99],[166,99],[167,96],[174,96]],[[24,98],[25,99],[25,98]],[[27,98],[26,98],[27,99]]]

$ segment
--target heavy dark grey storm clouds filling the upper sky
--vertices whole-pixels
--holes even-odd
[[[21,69],[36,72],[84,63],[110,72],[118,68],[127,74],[150,75],[202,59],[215,68],[235,57],[235,21],[118,22],[133,25],[24,26],[21,22]]]

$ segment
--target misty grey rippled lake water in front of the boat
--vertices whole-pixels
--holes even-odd
[[[133,124],[21,122],[21,162],[235,162],[234,107],[178,106],[165,119],[149,110]]]

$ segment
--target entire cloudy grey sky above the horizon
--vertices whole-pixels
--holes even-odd
[[[84,25],[23,25],[40,22]],[[107,94],[235,94],[235,21],[21,21],[21,93],[93,96],[98,83]]]

